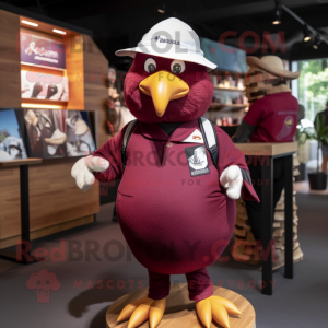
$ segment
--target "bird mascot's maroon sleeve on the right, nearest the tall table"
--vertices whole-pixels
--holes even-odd
[[[253,188],[245,155],[234,145],[230,137],[222,129],[215,126],[215,130],[219,148],[219,176],[221,176],[226,167],[237,165],[243,174],[242,198],[259,202],[259,198]]]

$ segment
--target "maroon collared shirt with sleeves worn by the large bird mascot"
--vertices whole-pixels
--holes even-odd
[[[167,136],[159,124],[139,121],[121,163],[124,132],[109,139],[93,156],[109,161],[96,179],[121,178],[117,215],[136,258],[149,270],[180,274],[211,265],[232,237],[236,208],[219,178],[245,156],[215,127],[219,171],[203,145],[198,120],[181,124]],[[257,200],[250,181],[243,180],[243,199]]]

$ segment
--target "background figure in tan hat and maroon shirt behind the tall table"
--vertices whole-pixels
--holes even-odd
[[[249,110],[238,127],[233,142],[292,142],[295,139],[298,103],[292,96],[289,81],[297,79],[300,72],[291,72],[284,69],[283,61],[277,56],[265,56],[262,58],[248,56],[246,61],[249,70],[246,73],[245,86],[246,96],[249,102]],[[294,157],[294,166],[300,165]],[[254,188],[261,198],[261,165],[248,163]],[[295,172],[296,173],[296,172]],[[273,238],[276,246],[276,258],[273,269],[284,265],[284,160],[276,159],[273,168]],[[297,213],[294,200],[294,261],[303,259],[303,253],[297,242]],[[251,229],[250,229],[251,227]],[[237,200],[237,220],[235,227],[236,239],[247,241],[248,245],[241,245],[236,248],[234,258],[250,265],[261,262],[260,254],[255,250],[261,238],[261,203],[242,199]],[[253,254],[249,254],[248,246],[253,246]]]

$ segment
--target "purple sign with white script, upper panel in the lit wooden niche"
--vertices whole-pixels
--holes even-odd
[[[21,62],[66,69],[66,46],[54,39],[21,32]]]

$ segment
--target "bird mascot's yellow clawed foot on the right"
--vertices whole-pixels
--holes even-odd
[[[230,328],[229,315],[242,314],[232,302],[214,295],[196,303],[196,311],[207,328],[211,327],[212,318],[222,327]]]

